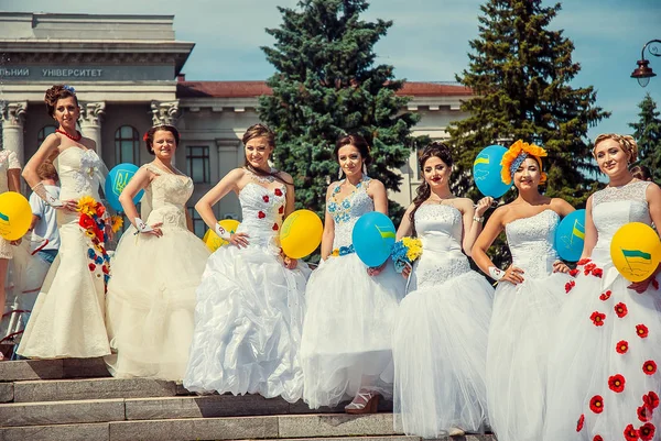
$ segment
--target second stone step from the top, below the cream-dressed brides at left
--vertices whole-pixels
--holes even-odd
[[[8,385],[8,384],[6,384]],[[191,395],[181,384],[150,378],[80,378],[40,379],[13,383],[13,397],[9,401],[63,401],[69,399],[147,398]],[[2,393],[0,403],[8,403]],[[4,399],[4,400],[3,400]]]

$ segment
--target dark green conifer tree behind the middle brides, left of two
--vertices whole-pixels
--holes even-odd
[[[369,176],[398,190],[394,172],[405,164],[415,140],[418,115],[401,112],[409,98],[397,96],[403,80],[393,68],[375,65],[373,45],[391,21],[367,22],[365,0],[302,0],[297,9],[278,8],[282,24],[267,32],[273,47],[262,47],[277,73],[269,78],[272,96],[260,98],[261,120],[277,133],[275,166],[290,173],[296,208],[324,214],[328,184],[337,179],[333,156],[337,139],[347,133],[370,142]],[[390,202],[399,222],[401,207]]]

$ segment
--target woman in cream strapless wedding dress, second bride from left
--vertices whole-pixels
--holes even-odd
[[[106,327],[116,377],[182,381],[193,339],[195,288],[209,256],[188,229],[186,201],[193,179],[172,165],[178,131],[156,125],[147,132],[155,159],[140,167],[119,197],[131,220],[112,257],[106,296]],[[144,188],[141,213],[133,197]]]

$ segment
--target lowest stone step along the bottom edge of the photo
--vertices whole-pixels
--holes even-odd
[[[248,440],[421,441],[395,433],[392,415],[306,415],[112,421],[0,428],[0,440]],[[495,441],[494,436],[442,438],[443,441]]]

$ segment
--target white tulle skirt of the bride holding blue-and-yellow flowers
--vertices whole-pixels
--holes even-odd
[[[402,300],[392,333],[397,430],[423,438],[484,431],[492,296],[470,271]]]

